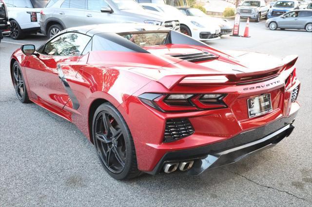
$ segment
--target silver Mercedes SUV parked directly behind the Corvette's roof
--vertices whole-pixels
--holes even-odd
[[[176,19],[164,19],[134,0],[50,0],[40,12],[41,33],[49,38],[59,31],[89,24],[139,22],[180,30]]]

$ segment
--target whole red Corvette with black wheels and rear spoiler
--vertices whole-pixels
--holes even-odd
[[[291,134],[297,56],[221,52],[140,24],[65,30],[11,58],[21,102],[73,122],[115,179],[234,163]]]

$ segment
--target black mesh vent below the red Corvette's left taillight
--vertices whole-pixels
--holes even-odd
[[[168,119],[166,121],[164,142],[176,141],[193,133],[193,126],[187,118]]]

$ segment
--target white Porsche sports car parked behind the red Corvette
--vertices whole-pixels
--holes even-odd
[[[200,17],[186,16],[178,9],[170,5],[155,3],[141,3],[143,8],[155,11],[162,16],[178,19],[181,33],[191,36],[197,40],[215,40],[220,38],[220,27],[213,22],[207,22]]]

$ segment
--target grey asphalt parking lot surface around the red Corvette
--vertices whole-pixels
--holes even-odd
[[[130,181],[116,181],[105,172],[94,146],[76,126],[33,103],[18,101],[10,79],[10,56],[19,43],[39,46],[46,38],[4,38],[0,206],[312,206],[312,33],[270,31],[262,20],[251,22],[250,35],[225,36],[208,44],[222,50],[299,55],[302,107],[292,135],[272,149],[197,177],[144,174]]]

